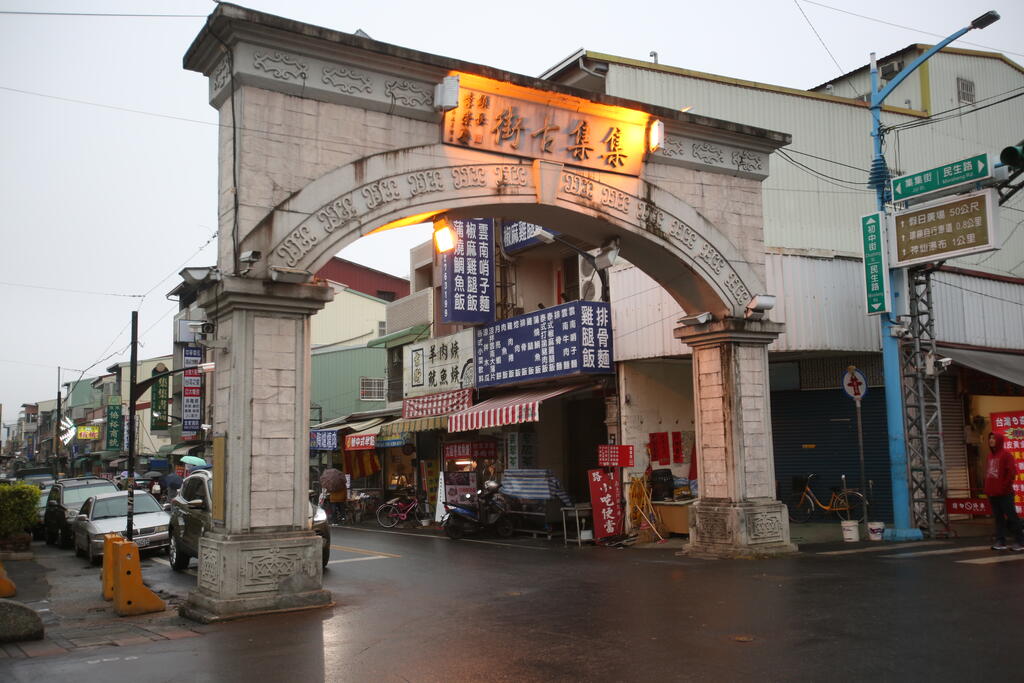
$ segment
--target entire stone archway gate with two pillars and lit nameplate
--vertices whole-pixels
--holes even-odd
[[[744,316],[765,293],[760,183],[787,136],[227,4],[184,66],[209,78],[221,123],[217,276],[200,294],[216,325],[215,530],[186,613],[330,602],[306,492],[308,321],[332,293],[312,273],[361,236],[440,213],[617,239],[685,310],[711,313],[677,331],[698,407],[691,549],[793,549],[767,386],[781,326]]]

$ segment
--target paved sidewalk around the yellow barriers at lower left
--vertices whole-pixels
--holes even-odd
[[[191,638],[204,627],[178,616],[184,596],[158,591],[167,610],[119,616],[103,600],[98,567],[42,543],[33,543],[34,558],[7,560],[4,567],[17,587],[11,598],[35,609],[43,620],[43,640],[0,643],[0,661],[37,657],[103,646],[127,646],[159,640]],[[144,581],[143,577],[143,581]]]

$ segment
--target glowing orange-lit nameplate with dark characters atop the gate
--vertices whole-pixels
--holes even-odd
[[[444,141],[638,175],[646,125],[646,116],[628,122],[584,113],[577,106],[557,109],[464,87],[459,106],[444,115]]]

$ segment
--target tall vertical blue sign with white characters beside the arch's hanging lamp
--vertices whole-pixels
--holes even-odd
[[[452,227],[459,240],[441,254],[441,319],[489,323],[495,319],[495,221],[455,218]]]

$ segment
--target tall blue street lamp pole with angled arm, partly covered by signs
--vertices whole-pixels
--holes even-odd
[[[885,211],[886,204],[891,200],[889,167],[882,154],[882,103],[893,90],[895,90],[906,78],[913,73],[921,65],[925,63],[933,54],[943,47],[953,42],[967,32],[973,29],[984,29],[999,19],[998,12],[987,11],[977,17],[969,26],[964,27],[942,41],[933,45],[921,56],[911,61],[902,71],[896,74],[883,88],[879,88],[879,69],[874,60],[874,53],[871,52],[871,99],[869,110],[871,113],[871,138],[873,139],[874,156],[871,159],[871,170],[868,175],[868,184],[874,188],[878,198],[878,209]],[[890,280],[896,274],[895,270],[890,270]],[[891,288],[892,297],[898,296],[895,287]],[[890,311],[895,307],[890,303]],[[880,316],[882,326],[882,364],[885,375],[886,394],[886,417],[889,427],[889,469],[892,476],[893,486],[893,521],[895,528],[893,537],[896,541],[909,541],[923,538],[921,529],[910,527],[910,503],[909,484],[907,482],[906,465],[906,433],[903,425],[903,391],[902,378],[899,361],[899,339],[891,332],[898,322],[884,314]]]

